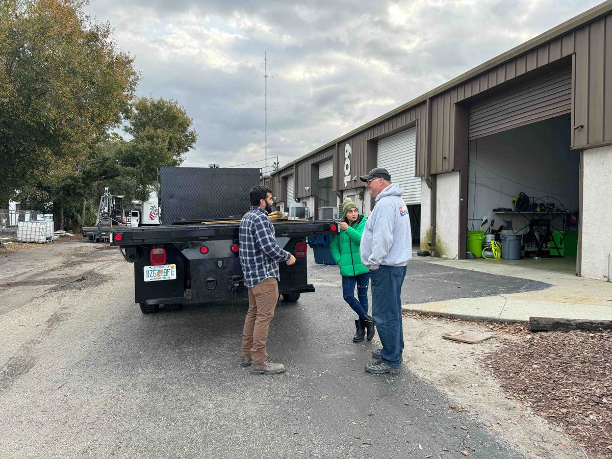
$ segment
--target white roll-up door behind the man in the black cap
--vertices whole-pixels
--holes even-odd
[[[404,188],[404,201],[408,205],[420,204],[420,177],[414,176],[417,130],[411,128],[378,141],[376,166],[391,174],[391,181]]]

